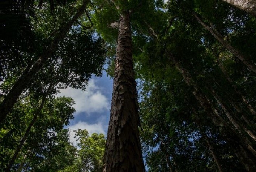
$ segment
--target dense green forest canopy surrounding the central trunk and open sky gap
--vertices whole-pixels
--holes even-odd
[[[70,144],[74,101],[54,95],[86,90],[105,57],[115,75],[129,11],[147,171],[255,171],[256,4],[226,2],[1,2],[0,170],[103,171],[104,135]]]

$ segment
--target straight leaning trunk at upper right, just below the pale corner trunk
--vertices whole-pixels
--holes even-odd
[[[210,26],[206,25],[198,16],[196,13],[193,12],[193,16],[195,16],[196,20],[199,21],[199,23],[205,27],[213,36],[215,39],[217,39],[224,47],[227,48],[232,54],[234,54],[236,57],[238,57],[239,60],[241,60],[249,69],[251,69],[254,73],[256,73],[256,65],[252,63],[251,60],[246,59],[244,55],[238,50],[236,50],[235,47],[233,47],[230,43],[226,42],[226,40],[223,39],[223,36],[218,33],[217,30],[214,28],[211,28]]]

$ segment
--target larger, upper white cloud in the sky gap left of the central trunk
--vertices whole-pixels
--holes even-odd
[[[72,89],[71,87],[60,91],[61,93],[58,96],[72,97],[74,99],[76,114],[81,112],[86,112],[87,114],[91,112],[101,113],[110,109],[110,100],[102,94],[102,89],[95,84],[93,79],[89,81],[85,91]]]

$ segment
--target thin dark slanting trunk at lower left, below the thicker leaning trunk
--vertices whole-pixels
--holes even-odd
[[[10,162],[9,162],[9,164],[8,164],[8,166],[7,166],[7,168],[5,169],[5,172],[9,172],[10,169],[12,168],[12,165],[13,165],[13,163],[15,162],[15,159],[17,158],[17,156],[18,156],[18,154],[19,154],[19,152],[20,152],[20,150],[21,150],[23,144],[25,143],[25,141],[26,141],[26,139],[27,139],[27,136],[29,136],[29,132],[30,132],[32,126],[34,125],[35,121],[37,120],[37,117],[38,117],[39,113],[41,113],[41,111],[42,111],[42,109],[43,109],[44,102],[46,101],[47,93],[48,93],[49,90],[50,90],[50,86],[49,86],[47,92],[44,94],[43,99],[42,99],[42,102],[41,102],[39,108],[37,109],[37,111],[35,112],[35,115],[34,115],[33,119],[31,120],[29,126],[27,127],[24,136],[22,137],[22,139],[21,139],[19,145],[18,145],[17,148],[16,148],[16,151],[14,152],[14,154],[13,154],[13,156],[12,156],[12,159],[10,160]]]

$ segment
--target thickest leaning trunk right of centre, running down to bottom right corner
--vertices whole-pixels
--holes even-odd
[[[219,128],[223,138],[225,138],[225,140],[231,145],[232,149],[237,152],[236,155],[239,154],[240,157],[238,158],[240,159],[240,162],[249,172],[256,171],[256,151],[253,149],[253,147],[244,141],[244,139],[240,137],[240,134],[230,127],[230,125],[218,114],[210,100],[205,95],[200,93],[199,87],[193,82],[188,71],[179,65],[178,61],[173,55],[171,55],[171,58],[176,68],[180,71],[180,73],[182,73],[184,81],[187,83],[187,85],[193,86],[193,95],[195,95],[195,98],[205,109],[214,125]]]

